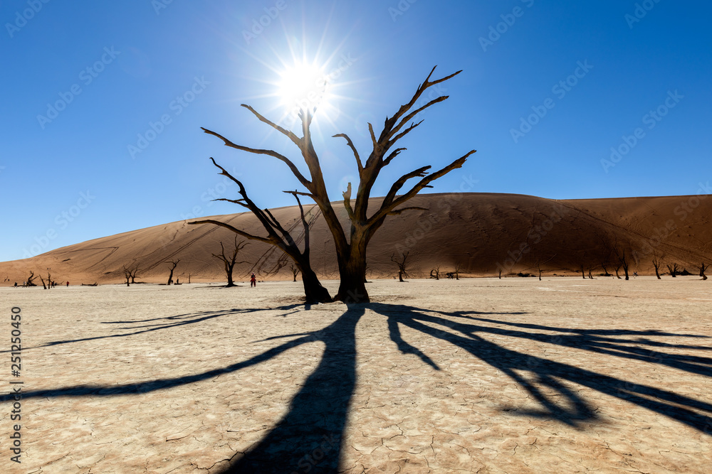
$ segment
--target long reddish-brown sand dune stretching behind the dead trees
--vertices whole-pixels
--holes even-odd
[[[409,252],[411,276],[426,276],[434,267],[452,271],[458,265],[468,276],[503,276],[519,271],[575,274],[581,268],[601,274],[614,271],[625,252],[630,271],[653,274],[651,263],[677,263],[693,273],[701,262],[712,261],[712,199],[709,195],[592,200],[549,200],[529,195],[463,193],[428,194],[409,205],[427,211],[409,211],[389,217],[369,247],[368,275],[391,277],[397,267],[392,254]],[[373,200],[375,206],[379,199]],[[342,205],[335,205],[345,222]],[[316,209],[314,209],[316,212]],[[300,229],[295,207],[273,210],[286,227]],[[249,214],[213,216],[262,235]],[[295,235],[300,235],[296,232]],[[71,284],[118,283],[122,267],[136,264],[140,281],[167,280],[170,259],[180,259],[175,276],[181,281],[224,281],[220,242],[230,247],[234,235],[212,225],[187,221],[124,232],[56,249],[31,259],[0,263],[0,276],[13,284],[29,271],[43,274],[51,267],[53,279]],[[337,266],[330,234],[315,215],[311,233],[313,266],[320,276],[335,278]],[[250,271],[261,278],[291,279],[290,262],[273,247],[250,242],[237,267],[236,280]],[[664,268],[664,266],[663,266]],[[276,272],[276,274],[275,274]],[[622,273],[622,270],[621,270]]]

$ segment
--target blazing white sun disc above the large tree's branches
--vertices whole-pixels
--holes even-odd
[[[277,95],[284,107],[313,111],[328,104],[330,84],[323,67],[300,63],[280,75]]]

